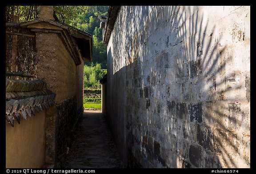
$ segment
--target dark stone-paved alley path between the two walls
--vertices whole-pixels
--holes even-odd
[[[84,112],[63,168],[122,168],[116,146],[101,112]]]

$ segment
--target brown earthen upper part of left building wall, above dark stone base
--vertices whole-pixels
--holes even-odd
[[[37,35],[37,76],[47,81],[47,88],[56,93],[55,101],[59,104],[76,95],[76,65],[57,34]]]

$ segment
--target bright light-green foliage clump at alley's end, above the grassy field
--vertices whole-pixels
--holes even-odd
[[[106,74],[101,70],[100,63],[84,65],[84,88],[100,88],[100,79]]]

